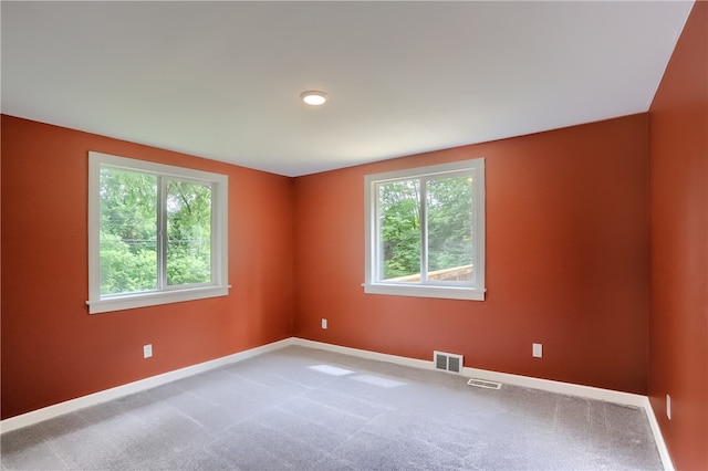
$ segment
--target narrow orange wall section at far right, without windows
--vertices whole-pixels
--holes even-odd
[[[707,2],[694,4],[652,103],[649,139],[648,394],[676,468],[708,470]]]

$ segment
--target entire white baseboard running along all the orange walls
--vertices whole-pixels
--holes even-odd
[[[53,406],[44,407],[42,409],[33,410],[31,412],[22,414],[17,417],[11,417],[0,421],[0,433],[9,432],[22,427],[28,427],[33,423],[41,422],[64,414],[73,412],[85,407],[94,406],[96,404],[106,402],[113,399],[117,399],[123,396],[127,396],[135,393],[140,393],[147,389],[152,389],[157,386],[165,385],[167,383],[183,379],[192,375],[197,375],[210,369],[215,369],[225,365],[229,365],[237,362],[242,362],[248,358],[252,358],[258,355],[262,355],[268,352],[273,352],[290,345],[298,345],[309,348],[317,348],[329,352],[341,353],[345,355],[357,356],[360,358],[374,359],[378,362],[388,362],[397,365],[409,366],[413,368],[435,369],[433,358],[429,362],[408,358],[404,356],[382,354],[377,352],[363,350],[358,348],[343,347],[340,345],[325,344],[322,342],[308,341],[304,338],[290,337],[282,341],[273,342],[271,344],[262,345],[260,347],[251,348],[248,350],[239,352],[233,355],[228,355],[221,358],[216,358],[209,362],[200,363],[198,365],[188,366],[186,368],[176,369],[174,371],[164,373],[162,375],[153,376],[149,378],[140,379],[138,381],[128,383],[127,385],[117,386],[115,388],[105,389],[103,391],[94,393],[87,396],[83,396],[76,399],[67,400],[64,402],[55,404]],[[478,368],[462,368],[462,376],[470,378],[487,379],[514,386],[522,386],[533,389],[546,390],[550,393],[564,394],[569,396],[579,396],[584,398],[604,400],[607,402],[620,404],[624,406],[639,407],[645,410],[649,426],[654,433],[656,447],[662,458],[664,469],[674,471],[674,463],[671,462],[670,454],[666,448],[662,430],[659,428],[652,404],[646,396],[636,394],[615,391],[610,389],[595,388],[591,386],[573,385],[570,383],[553,381],[550,379],[533,378],[529,376],[512,375],[508,373],[490,371]]]

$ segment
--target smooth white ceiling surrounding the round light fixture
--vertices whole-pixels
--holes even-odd
[[[2,1],[1,109],[306,175],[645,112],[691,6]]]

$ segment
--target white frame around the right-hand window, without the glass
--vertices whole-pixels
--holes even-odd
[[[378,243],[379,218],[377,185],[413,178],[441,178],[446,174],[468,172],[473,178],[475,220],[472,224],[476,233],[475,282],[471,285],[442,285],[434,282],[391,282],[378,279],[382,263]],[[364,177],[364,231],[365,231],[365,282],[364,292],[369,294],[388,294],[398,296],[441,297],[450,300],[485,300],[485,159],[476,158],[450,164],[409,168],[384,174],[366,175]],[[423,211],[425,214],[425,211]],[[423,216],[425,218],[425,216]],[[421,221],[424,226],[425,221]],[[423,242],[421,242],[423,243]]]

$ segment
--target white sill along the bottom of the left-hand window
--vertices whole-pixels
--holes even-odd
[[[88,314],[107,313],[112,311],[132,310],[136,307],[156,306],[159,304],[180,303],[184,301],[204,300],[208,297],[226,296],[231,286],[207,286],[187,290],[162,291],[150,293],[127,294],[103,300],[90,300]]]

